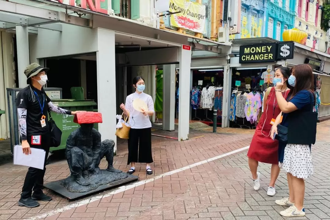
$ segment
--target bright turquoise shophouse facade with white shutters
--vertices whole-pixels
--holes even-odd
[[[294,27],[296,0],[265,0],[264,36],[282,41],[282,33]]]

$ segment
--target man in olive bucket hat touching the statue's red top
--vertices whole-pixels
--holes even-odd
[[[40,205],[36,200],[51,200],[51,197],[45,195],[42,191],[47,155],[49,153],[49,147],[51,147],[49,146],[48,108],[60,114],[75,115],[78,112],[61,109],[51,103],[43,89],[43,85],[48,80],[48,70],[48,68],[43,68],[37,63],[27,66],[24,74],[27,77],[26,82],[29,85],[17,94],[16,99],[23,153],[26,155],[31,154],[30,147],[40,148],[46,151],[46,158],[42,158],[44,160],[44,170],[30,167],[25,176],[21,198],[18,204],[29,208]]]

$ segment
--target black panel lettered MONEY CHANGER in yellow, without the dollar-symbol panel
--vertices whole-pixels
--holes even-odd
[[[260,63],[276,61],[276,43],[240,46],[240,63]]]

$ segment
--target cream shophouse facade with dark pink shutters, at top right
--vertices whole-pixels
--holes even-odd
[[[295,28],[307,32],[305,45],[325,51],[325,32],[321,29],[323,0],[296,0]]]

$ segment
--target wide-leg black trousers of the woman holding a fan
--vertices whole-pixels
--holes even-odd
[[[153,162],[151,153],[151,128],[131,128],[129,130],[127,165],[131,162]]]

